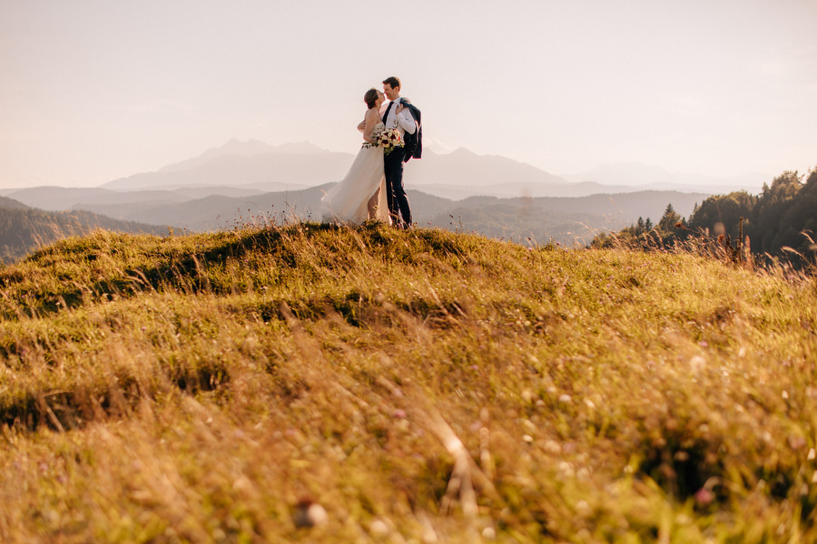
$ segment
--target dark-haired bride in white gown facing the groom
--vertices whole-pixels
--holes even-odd
[[[369,108],[363,118],[363,147],[346,177],[320,199],[325,221],[362,223],[377,219],[389,222],[383,148],[372,141],[372,133],[381,130],[379,126],[383,125],[379,113],[383,100],[383,93],[377,89],[369,89],[363,96]]]

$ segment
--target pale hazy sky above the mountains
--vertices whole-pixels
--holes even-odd
[[[0,0],[0,188],[231,138],[356,152],[389,75],[426,145],[555,174],[817,165],[817,0]]]

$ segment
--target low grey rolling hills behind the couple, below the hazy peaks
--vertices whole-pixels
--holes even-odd
[[[320,220],[320,197],[329,186],[240,196],[207,194],[205,188],[133,192],[93,189],[77,193],[77,199],[89,201],[74,203],[73,208],[162,228],[219,230],[270,220],[278,223],[294,218]],[[230,188],[224,189],[228,190],[223,192],[229,192]],[[26,189],[15,195],[40,202],[44,196],[54,202],[69,199],[62,193],[47,196],[49,191]],[[187,192],[182,194],[182,191]],[[195,198],[197,194],[207,196]],[[496,238],[553,240],[567,246],[589,243],[596,234],[624,228],[639,217],[657,220],[669,203],[680,214],[688,215],[694,205],[707,196],[705,193],[644,190],[573,198],[469,197],[452,200],[408,190],[418,225],[478,232]]]

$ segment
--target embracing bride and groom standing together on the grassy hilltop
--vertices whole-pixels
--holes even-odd
[[[363,101],[368,108],[358,125],[363,146],[346,177],[320,199],[324,219],[379,220],[409,228],[411,209],[403,189],[403,163],[421,155],[420,112],[400,97],[396,77],[383,81],[383,92],[369,89]]]

